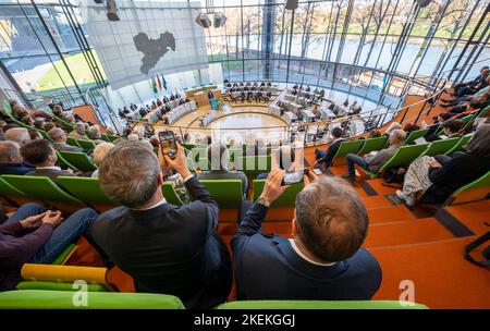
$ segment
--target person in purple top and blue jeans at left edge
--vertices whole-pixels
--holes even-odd
[[[61,211],[25,204],[0,225],[0,291],[15,290],[24,263],[51,263],[83,235],[97,212],[81,209],[66,220]]]

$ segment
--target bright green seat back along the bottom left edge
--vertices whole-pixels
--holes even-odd
[[[0,309],[184,309],[173,295],[86,292],[74,301],[71,291],[17,290],[0,293]],[[78,303],[78,304],[76,304]]]

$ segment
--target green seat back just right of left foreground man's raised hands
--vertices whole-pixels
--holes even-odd
[[[201,180],[200,183],[218,203],[220,209],[238,209],[243,200],[241,180]]]

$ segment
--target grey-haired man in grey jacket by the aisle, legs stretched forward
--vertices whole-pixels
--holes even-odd
[[[344,174],[343,177],[346,179],[355,179],[356,172],[354,166],[357,164],[366,171],[378,172],[384,163],[394,155],[396,149],[402,146],[403,142],[406,138],[406,134],[403,130],[393,130],[390,133],[390,147],[379,150],[371,151],[366,155],[364,158],[359,157],[355,154],[347,154],[345,157],[347,161],[347,170],[348,173]]]

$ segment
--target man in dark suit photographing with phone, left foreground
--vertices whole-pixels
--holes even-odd
[[[161,167],[182,175],[193,203],[174,206],[162,191]],[[218,204],[187,169],[177,145],[160,160],[142,142],[121,142],[99,166],[102,191],[123,207],[102,213],[91,237],[133,280],[137,292],[177,296],[187,308],[211,308],[231,290],[231,263],[219,237]]]

